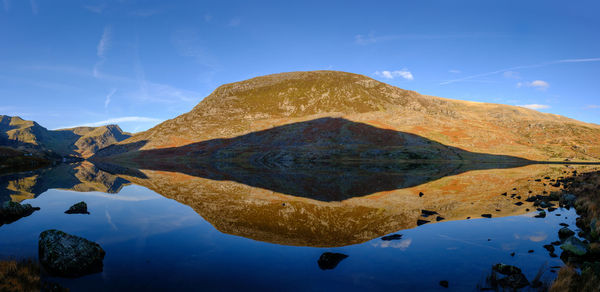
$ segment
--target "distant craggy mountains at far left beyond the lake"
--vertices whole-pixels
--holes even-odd
[[[98,149],[129,137],[117,125],[48,130],[34,121],[0,115],[0,146],[47,156],[87,158]]]

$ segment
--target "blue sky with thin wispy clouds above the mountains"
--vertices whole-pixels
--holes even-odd
[[[0,1],[0,113],[50,129],[322,69],[600,124],[598,1]]]

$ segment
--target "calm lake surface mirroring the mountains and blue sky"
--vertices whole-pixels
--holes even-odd
[[[559,208],[534,218],[525,198],[559,189],[545,177],[588,168],[408,167],[381,176],[363,167],[311,176],[230,166],[111,174],[88,162],[63,164],[0,177],[2,200],[41,208],[0,226],[0,260],[37,261],[39,234],[59,229],[106,251],[101,273],[42,275],[72,291],[470,291],[486,286],[496,263],[550,282],[562,261],[543,245],[558,240],[559,223],[576,229],[576,214]],[[80,201],[89,215],[64,214]],[[390,234],[401,237],[382,239]]]

